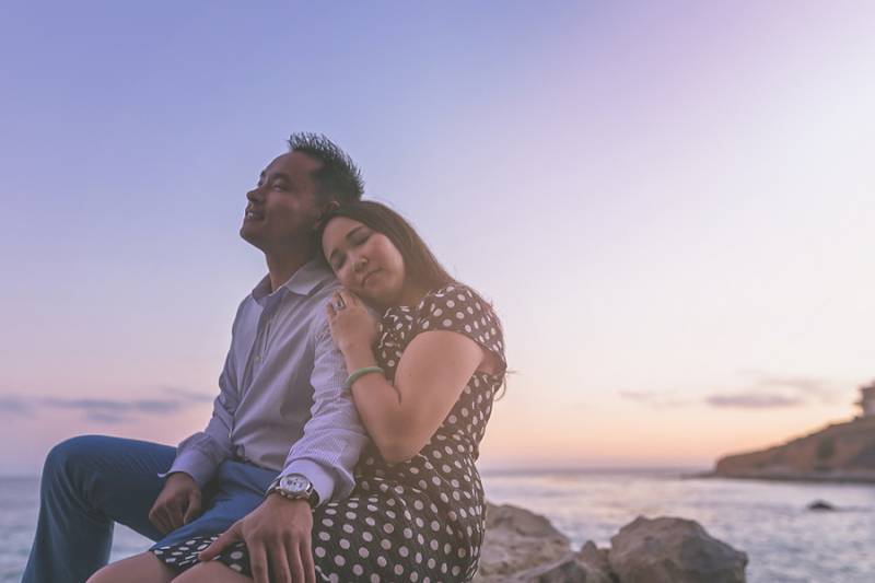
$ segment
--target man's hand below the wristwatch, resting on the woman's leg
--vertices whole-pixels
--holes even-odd
[[[200,552],[199,558],[201,561],[212,560],[222,549],[244,540],[255,583],[315,583],[312,532],[310,504],[305,500],[288,500],[273,493],[222,533]]]

